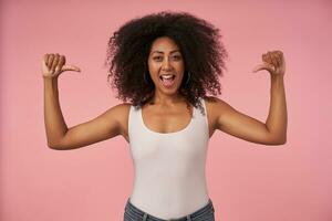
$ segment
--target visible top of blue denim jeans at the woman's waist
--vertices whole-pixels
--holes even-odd
[[[209,201],[206,206],[204,206],[203,208],[198,209],[197,211],[195,211],[190,214],[187,214],[187,215],[178,218],[178,219],[163,220],[160,218],[156,218],[156,217],[148,214],[147,212],[138,209],[131,202],[131,198],[128,198],[126,206],[125,206],[125,212],[129,213],[131,218],[139,219],[143,221],[191,221],[193,219],[199,220],[199,218],[205,218],[206,215],[214,214],[215,208],[214,208],[211,199],[209,199]]]

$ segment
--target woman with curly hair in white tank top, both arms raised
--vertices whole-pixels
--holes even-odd
[[[219,30],[189,13],[160,12],[134,19],[108,42],[107,64],[117,98],[124,103],[68,128],[58,97],[58,78],[77,71],[59,54],[45,54],[45,129],[50,148],[84,147],[122,135],[129,144],[135,180],[124,220],[215,220],[205,162],[216,129],[263,145],[287,139],[287,107],[281,51],[262,55],[253,72],[271,76],[266,124],[216,96],[227,52]],[[126,101],[129,99],[129,103]]]

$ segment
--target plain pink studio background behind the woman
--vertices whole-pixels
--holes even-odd
[[[221,131],[210,139],[206,169],[216,220],[332,220],[331,1],[1,0],[0,7],[1,221],[123,219],[133,183],[126,141],[50,149],[41,59],[58,52],[81,67],[60,77],[60,103],[69,127],[90,120],[120,103],[103,66],[112,32],[167,9],[220,29],[230,55],[220,98],[261,122],[270,77],[250,71],[267,51],[286,56],[288,143],[262,146]]]

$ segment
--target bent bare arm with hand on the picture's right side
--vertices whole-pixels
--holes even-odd
[[[281,51],[262,55],[263,63],[253,72],[267,70],[271,75],[270,109],[266,124],[247,116],[221,99],[217,99],[216,127],[227,134],[263,145],[283,145],[287,141],[287,105],[283,76],[286,62]]]

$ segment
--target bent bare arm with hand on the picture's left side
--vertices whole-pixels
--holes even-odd
[[[75,149],[123,134],[121,120],[126,104],[116,105],[90,122],[68,128],[59,103],[58,80],[62,72],[80,71],[80,69],[64,63],[64,56],[59,54],[45,54],[43,57],[44,123],[48,146],[59,150]]]

